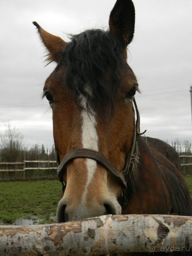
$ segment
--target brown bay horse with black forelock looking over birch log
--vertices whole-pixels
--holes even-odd
[[[139,85],[127,63],[134,23],[132,0],[116,1],[107,31],[85,30],[69,42],[33,22],[47,61],[57,64],[43,97],[52,108],[63,187],[58,223],[107,214],[192,215],[176,151],[140,132]]]

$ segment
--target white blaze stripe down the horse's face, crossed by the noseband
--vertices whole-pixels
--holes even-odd
[[[98,151],[98,135],[96,131],[96,118],[95,116],[89,114],[86,111],[86,100],[82,98],[82,109],[81,116],[82,116],[82,146],[85,149],[93,149]],[[92,110],[93,114],[94,111]],[[87,167],[87,182],[85,185],[85,191],[82,195],[82,203],[85,203],[86,195],[87,195],[87,189],[88,185],[91,182],[91,179],[93,178],[93,175],[96,171],[96,161],[87,158],[86,159],[86,167]]]

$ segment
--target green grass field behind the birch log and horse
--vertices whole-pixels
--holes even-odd
[[[185,176],[192,195],[192,176]],[[58,180],[0,182],[0,225],[13,224],[19,218],[55,223],[62,186]]]

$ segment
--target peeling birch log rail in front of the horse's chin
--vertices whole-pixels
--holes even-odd
[[[68,223],[0,226],[0,256],[192,251],[192,217],[104,215]]]

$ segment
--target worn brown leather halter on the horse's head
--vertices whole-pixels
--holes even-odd
[[[125,192],[127,189],[127,176],[129,173],[129,169],[132,168],[131,160],[134,156],[135,150],[136,150],[136,141],[139,135],[142,135],[146,132],[140,133],[140,115],[137,108],[137,104],[135,102],[135,99],[133,100],[134,107],[136,110],[136,123],[135,123],[135,116],[134,116],[134,134],[132,139],[132,145],[129,151],[129,154],[126,156],[125,160],[125,167],[123,168],[123,171],[118,171],[115,166],[112,164],[112,162],[107,159],[107,157],[104,156],[104,154],[100,153],[99,151],[95,151],[92,149],[73,149],[66,153],[66,155],[63,157],[62,162],[60,163],[58,167],[58,177],[60,182],[63,184],[63,192],[66,188],[66,184],[63,181],[63,172],[66,171],[67,164],[73,160],[74,158],[91,158],[93,160],[96,160],[96,162],[99,162],[101,165],[103,165],[108,171],[110,171],[116,179],[121,183],[122,185],[122,195],[125,196]],[[133,107],[133,111],[134,111]]]

